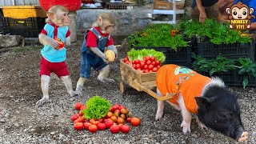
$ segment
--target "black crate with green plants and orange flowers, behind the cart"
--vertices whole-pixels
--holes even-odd
[[[191,49],[182,33],[170,24],[150,24],[146,30],[130,34],[129,46],[135,50],[154,49],[166,56],[164,64],[174,63],[182,66],[191,64]]]

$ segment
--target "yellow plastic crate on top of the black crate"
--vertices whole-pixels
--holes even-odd
[[[46,10],[41,6],[3,6],[3,16],[6,18],[46,18]]]

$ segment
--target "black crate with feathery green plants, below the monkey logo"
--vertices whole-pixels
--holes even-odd
[[[200,22],[183,20],[179,29],[183,30],[186,38],[196,36],[195,53],[203,58],[217,58],[222,55],[226,58],[251,58],[254,61],[255,45],[252,38],[239,34],[238,30],[230,30],[228,24],[214,19]]]

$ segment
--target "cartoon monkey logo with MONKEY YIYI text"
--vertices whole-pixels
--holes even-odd
[[[254,8],[249,8],[242,2],[238,2],[231,8],[226,8],[226,14],[229,14],[230,29],[245,30],[250,29],[250,18],[255,18]]]

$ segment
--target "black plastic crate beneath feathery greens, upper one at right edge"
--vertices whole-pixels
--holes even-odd
[[[198,42],[196,54],[202,58],[215,59],[218,55],[226,58],[250,58],[255,60],[255,43],[222,43],[216,45],[212,42]]]

